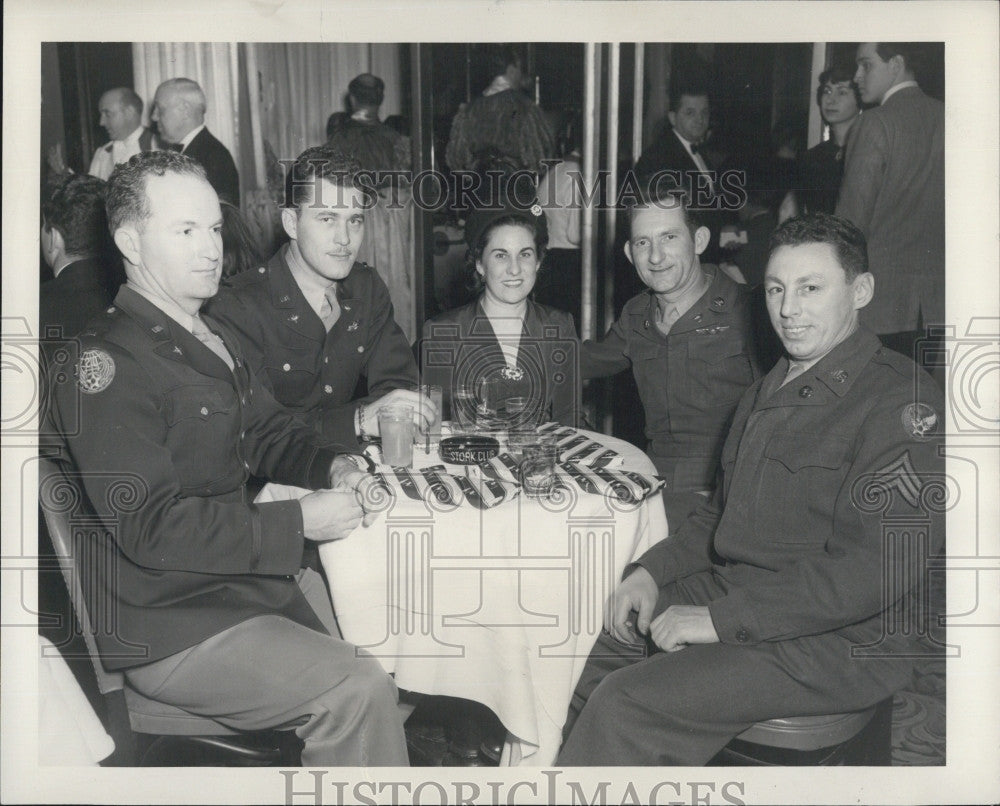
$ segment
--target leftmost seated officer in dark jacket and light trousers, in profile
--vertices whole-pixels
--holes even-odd
[[[230,331],[199,313],[222,271],[204,169],[138,154],[112,173],[107,213],[128,282],[81,333],[76,383],[57,387],[53,412],[105,527],[77,558],[90,612],[116,617],[97,636],[104,665],[232,728],[295,723],[306,765],[405,765],[395,685],[333,637],[322,580],[300,572],[305,542],[361,522],[367,476],[279,406]],[[249,473],[317,492],[251,504]]]

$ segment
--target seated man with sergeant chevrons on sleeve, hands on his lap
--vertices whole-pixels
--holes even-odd
[[[786,222],[764,282],[787,357],[740,400],[712,500],[626,568],[560,764],[705,764],[755,722],[860,710],[912,672],[914,519],[932,554],[944,539],[925,495],[942,401],[859,327],[875,280],[853,224]],[[887,528],[897,516],[905,530]]]

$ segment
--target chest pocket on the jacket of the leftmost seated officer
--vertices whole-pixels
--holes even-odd
[[[209,385],[181,386],[164,400],[167,448],[173,455],[181,488],[206,489],[237,475],[235,446],[240,429],[236,392]]]

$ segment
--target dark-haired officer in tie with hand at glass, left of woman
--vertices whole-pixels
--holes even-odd
[[[291,241],[267,266],[236,275],[209,307],[239,337],[279,403],[343,445],[378,435],[379,407],[431,402],[411,391],[417,365],[393,318],[389,290],[355,256],[365,234],[358,163],[326,146],[288,172],[281,223]],[[359,379],[367,395],[354,399]]]

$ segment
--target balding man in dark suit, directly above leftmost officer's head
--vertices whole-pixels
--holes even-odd
[[[161,143],[201,163],[219,198],[240,206],[240,177],[233,157],[205,126],[205,93],[190,78],[171,78],[156,88],[150,120]]]

